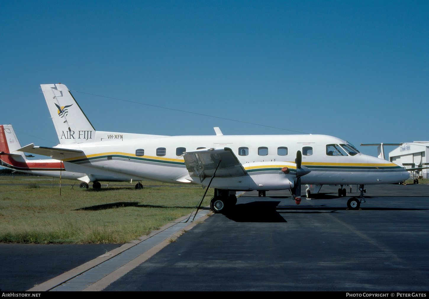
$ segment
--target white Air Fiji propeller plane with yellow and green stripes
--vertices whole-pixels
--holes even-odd
[[[236,203],[236,191],[290,189],[296,203],[301,184],[389,184],[407,170],[361,154],[350,143],[326,135],[160,136],[96,131],[66,85],[40,85],[60,145],[24,146],[20,151],[62,160],[67,171],[94,176],[200,184],[215,188],[214,212]],[[81,180],[91,181],[89,177]],[[345,189],[339,193],[346,195]]]

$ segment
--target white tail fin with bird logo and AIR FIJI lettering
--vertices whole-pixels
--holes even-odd
[[[66,85],[41,84],[61,144],[92,142],[95,129]]]

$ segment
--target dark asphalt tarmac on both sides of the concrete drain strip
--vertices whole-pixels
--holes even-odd
[[[365,187],[361,211],[338,187],[300,205],[287,190],[245,193],[104,290],[427,291],[429,185]],[[109,246],[0,244],[0,288],[28,290]]]

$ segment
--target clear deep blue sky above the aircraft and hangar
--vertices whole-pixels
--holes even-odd
[[[61,82],[376,155],[358,145],[429,139],[428,15],[428,1],[3,0],[0,122],[23,145],[55,145],[39,85]],[[73,95],[97,130],[292,133]]]

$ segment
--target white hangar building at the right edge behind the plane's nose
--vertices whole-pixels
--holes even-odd
[[[389,153],[389,160],[401,163],[405,168],[429,165],[429,141],[406,142]],[[422,173],[423,172],[423,173]],[[420,175],[429,178],[429,169],[422,169]]]

